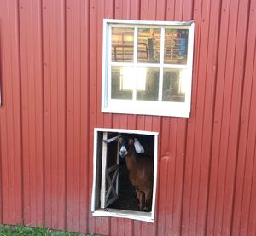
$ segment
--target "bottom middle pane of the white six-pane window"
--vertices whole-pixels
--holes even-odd
[[[137,68],[137,100],[158,101],[159,68]]]

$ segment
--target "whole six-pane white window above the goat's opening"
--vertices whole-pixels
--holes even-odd
[[[194,23],[104,20],[102,112],[189,117]]]

